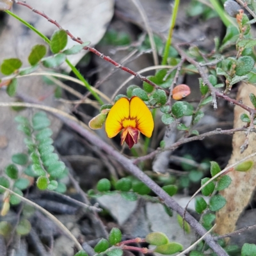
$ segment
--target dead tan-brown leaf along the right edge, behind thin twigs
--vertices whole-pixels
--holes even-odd
[[[237,100],[242,100],[243,104],[253,108],[252,102],[249,99],[249,93],[256,94],[256,87],[252,84],[242,83],[237,92]],[[234,108],[234,128],[244,125],[244,122],[240,118],[243,113],[246,113],[246,111],[239,106]],[[232,140],[233,152],[228,165],[234,164],[255,152],[256,134],[252,132],[249,135],[249,146],[241,154],[240,147],[243,145],[245,139],[244,132],[236,132],[234,134]],[[252,160],[256,162],[256,157],[252,157]],[[228,175],[231,177],[232,183],[220,193],[227,200],[227,204],[216,214],[217,226],[214,231],[220,235],[235,230],[237,219],[250,202],[256,184],[255,164],[249,172],[234,171],[228,173]]]

